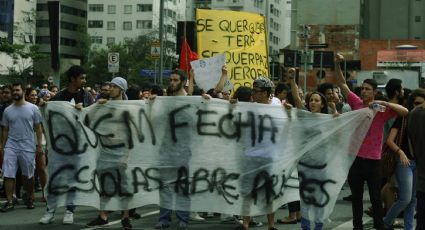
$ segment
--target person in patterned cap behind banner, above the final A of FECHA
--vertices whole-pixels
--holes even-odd
[[[273,87],[274,87],[274,84],[269,78],[260,76],[257,79],[255,79],[253,83],[253,87],[252,87],[253,101],[255,103],[271,104],[270,96],[272,95]],[[256,157],[256,158],[257,158],[256,162],[261,161],[262,163],[261,165],[255,165],[254,166],[255,168],[258,168],[259,166],[262,166],[262,165],[266,165],[267,163],[270,163],[270,161],[272,160],[267,157]],[[245,167],[249,167],[249,164],[246,164]],[[252,168],[249,167],[244,170],[250,171],[252,170]],[[235,230],[247,230],[249,228],[250,220],[251,220],[250,216],[244,216],[242,225],[236,227]],[[267,222],[268,222],[269,230],[277,230],[277,228],[274,227],[274,212],[267,214]]]

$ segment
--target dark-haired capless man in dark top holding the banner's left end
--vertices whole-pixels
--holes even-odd
[[[83,107],[90,106],[93,104],[92,95],[84,90],[86,84],[86,71],[81,66],[71,66],[66,75],[68,77],[68,86],[59,91],[50,101],[68,101],[74,102],[76,109],[82,109]],[[73,159],[77,160],[77,159]],[[67,193],[67,206],[66,212],[63,217],[64,224],[74,223],[74,210],[75,205],[73,199],[75,191],[68,191]],[[40,224],[49,224],[55,221],[55,211],[57,207],[57,197],[54,194],[47,195],[47,212],[39,220]]]

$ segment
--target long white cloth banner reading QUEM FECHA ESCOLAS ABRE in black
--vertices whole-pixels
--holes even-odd
[[[109,101],[82,111],[50,102],[43,114],[46,192],[58,206],[159,204],[256,216],[301,198],[303,216],[316,221],[331,213],[374,116],[200,97]]]

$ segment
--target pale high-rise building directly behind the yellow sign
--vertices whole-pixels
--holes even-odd
[[[264,15],[268,26],[269,55],[275,57],[290,43],[291,1],[188,0],[186,19],[196,20],[195,9],[234,10]]]

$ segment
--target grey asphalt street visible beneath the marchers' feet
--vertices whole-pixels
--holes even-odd
[[[350,202],[343,201],[342,197],[349,194],[349,188],[347,185],[344,186],[344,189],[339,194],[338,201],[335,205],[335,209],[330,216],[330,218],[325,222],[324,229],[352,229],[352,216],[351,216],[351,204]],[[59,208],[56,213],[56,220],[54,223],[49,225],[38,224],[39,219],[45,212],[45,204],[41,202],[39,198],[41,193],[37,193],[37,200],[35,202],[36,208],[33,210],[28,210],[22,202],[20,205],[15,206],[15,210],[0,213],[0,229],[2,230],[37,230],[37,229],[90,229],[85,228],[85,224],[94,219],[98,212],[96,209],[91,207],[77,207],[74,215],[74,224],[73,225],[63,225],[62,218],[64,213],[64,208]],[[364,193],[364,208],[370,206],[368,201],[368,192],[365,190]],[[1,203],[4,203],[4,198],[1,199]],[[145,206],[137,209],[137,212],[142,215],[142,218],[139,220],[132,220],[133,229],[145,229],[152,230],[153,226],[158,220],[159,208],[156,205]],[[276,213],[277,218],[283,218],[288,214],[287,209],[279,209]],[[173,215],[173,224],[170,229],[176,229],[177,222],[175,215]],[[261,216],[255,218],[256,221],[261,221],[265,225],[262,227],[250,228],[257,230],[266,230],[266,217]],[[368,216],[363,217],[363,222],[365,223],[365,229],[373,229],[372,219]],[[236,223],[221,223],[219,217],[213,217],[207,219],[204,222],[194,222],[189,223],[189,229],[191,230],[204,230],[204,229],[222,229],[222,230],[232,230],[236,227]],[[290,230],[290,229],[300,229],[300,225],[281,225],[276,224],[276,227],[279,230]],[[103,227],[102,229],[120,229],[120,212],[111,213],[109,216],[108,226]],[[92,228],[93,229],[93,228]]]

